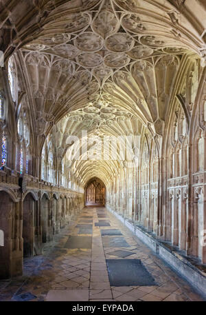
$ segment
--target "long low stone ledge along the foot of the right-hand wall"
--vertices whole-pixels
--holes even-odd
[[[165,247],[163,243],[157,241],[151,234],[141,230],[140,227],[133,225],[123,216],[117,214],[111,207],[106,205],[106,209],[114,214],[119,221],[121,221],[130,231],[132,231],[144,244],[160,256],[165,263],[168,263],[175,272],[178,272],[186,281],[188,281],[194,289],[196,289],[204,298],[206,298],[206,274],[198,270],[197,267],[192,265],[186,258],[181,256],[178,252],[170,250]]]

